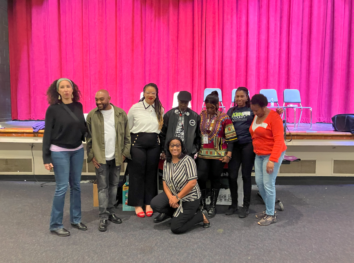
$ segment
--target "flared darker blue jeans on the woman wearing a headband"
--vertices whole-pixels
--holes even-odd
[[[57,183],[50,215],[49,230],[64,228],[63,213],[65,193],[70,185],[70,223],[81,223],[81,170],[84,162],[84,148],[76,151],[51,152]]]

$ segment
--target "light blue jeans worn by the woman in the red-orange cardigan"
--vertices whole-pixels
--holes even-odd
[[[273,173],[267,173],[267,163],[270,155],[256,155],[255,160],[255,176],[259,193],[265,203],[265,213],[268,216],[274,215],[275,206],[275,179],[279,172],[281,162],[284,158],[285,151],[281,153],[277,163],[274,163]]]

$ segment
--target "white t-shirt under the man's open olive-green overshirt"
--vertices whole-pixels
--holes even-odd
[[[115,141],[116,130],[114,126],[114,110],[113,107],[107,111],[101,111],[104,120],[104,150],[106,155],[106,161],[113,160],[115,158]]]

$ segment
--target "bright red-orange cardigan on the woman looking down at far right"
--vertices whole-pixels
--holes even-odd
[[[253,122],[255,121],[256,118],[253,119]],[[252,136],[253,151],[257,155],[270,154],[269,160],[278,162],[281,153],[286,150],[284,126],[279,114],[270,110],[267,118],[262,123],[262,127],[258,127],[253,131],[252,125],[250,133]]]

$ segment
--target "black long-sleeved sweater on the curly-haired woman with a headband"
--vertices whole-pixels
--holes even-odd
[[[62,104],[50,105],[45,114],[45,129],[43,135],[43,163],[51,163],[50,145],[67,149],[79,147],[85,141],[86,122],[82,104],[73,102],[66,104],[78,117],[79,122],[67,112]]]

